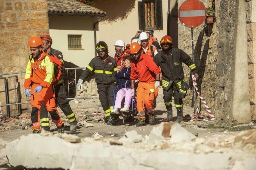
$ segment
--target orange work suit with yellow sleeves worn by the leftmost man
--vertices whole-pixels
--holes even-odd
[[[55,107],[55,97],[52,85],[53,78],[54,65],[51,57],[48,54],[42,51],[40,58],[36,61],[31,55],[29,56],[29,61],[25,73],[24,88],[30,89],[31,87],[32,129],[40,130],[40,121],[45,121],[40,120],[39,114],[42,102],[44,102],[47,111],[50,113],[52,121],[56,124],[56,126],[61,127],[63,125],[62,119],[60,118],[59,113]],[[43,89],[39,93],[34,93],[34,89],[38,86],[42,86]],[[48,119],[49,121],[49,118],[43,119]]]

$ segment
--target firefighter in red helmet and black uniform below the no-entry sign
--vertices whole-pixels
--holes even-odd
[[[189,85],[184,82],[182,62],[185,63],[198,79],[195,63],[183,50],[172,46],[172,38],[164,36],[160,45],[162,50],[155,56],[154,61],[160,66],[162,72],[162,88],[164,103],[167,109],[167,120],[172,120],[172,96],[177,108],[177,123],[183,118],[183,102]]]

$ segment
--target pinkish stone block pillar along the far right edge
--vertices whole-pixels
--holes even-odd
[[[246,3],[246,16],[250,112],[256,121],[256,0]]]

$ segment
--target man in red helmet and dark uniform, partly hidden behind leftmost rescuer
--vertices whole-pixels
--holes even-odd
[[[49,35],[42,35],[41,39],[43,40],[42,48],[43,48],[44,52],[47,53],[48,55],[50,55],[51,57],[54,57],[54,55],[57,56],[57,58],[60,61],[62,61],[63,65],[64,65],[62,52],[60,52],[57,49],[53,49],[51,47],[52,38]],[[58,70],[58,68],[55,68],[54,72],[56,73],[58,71],[61,71],[63,74],[64,68],[63,68],[63,70]],[[55,102],[60,107],[62,112],[66,115],[66,117],[68,118],[68,121],[70,123],[70,131],[74,132],[76,130],[77,121],[76,121],[75,114],[72,111],[72,109],[69,105],[69,102],[67,100],[67,97],[66,97],[66,91],[65,91],[64,82],[63,82],[63,75],[62,75],[61,79],[58,82],[56,82],[56,84],[54,84],[54,89],[55,89],[54,90],[55,91]],[[40,117],[41,117],[41,120],[44,120],[41,122],[41,123],[44,123],[43,125],[47,125],[45,123],[49,123],[48,112],[47,112],[44,104],[42,104],[42,107],[40,110]],[[44,130],[50,131],[49,126],[42,126],[42,127],[44,128]]]

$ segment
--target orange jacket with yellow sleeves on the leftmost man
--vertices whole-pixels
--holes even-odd
[[[54,65],[51,57],[44,51],[40,54],[38,60],[29,56],[28,65],[25,73],[24,88],[29,89],[31,83],[39,84],[43,87],[49,87],[54,78]]]

